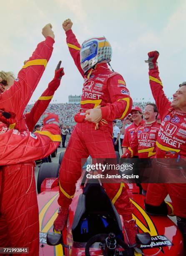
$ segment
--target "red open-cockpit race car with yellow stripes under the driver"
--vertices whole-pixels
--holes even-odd
[[[60,162],[63,154],[64,152],[61,153]],[[183,255],[181,232],[168,217],[148,215],[144,211],[144,196],[139,194],[136,184],[129,184],[131,202],[135,206],[133,218],[136,219],[140,233],[145,234],[137,238],[141,245],[135,249],[129,248],[124,242],[126,236],[122,218],[98,180],[91,180],[85,186],[81,179],[78,181],[66,228],[62,234],[54,233],[53,221],[59,207],[59,167],[60,164],[44,163],[38,174],[40,255]],[[146,233],[150,234],[150,240]]]

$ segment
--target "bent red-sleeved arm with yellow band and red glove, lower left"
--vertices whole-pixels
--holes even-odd
[[[50,119],[55,119],[56,123],[48,123]],[[42,130],[34,133],[10,129],[0,122],[0,166],[41,159],[59,146],[61,136],[58,115],[47,113],[43,122]]]

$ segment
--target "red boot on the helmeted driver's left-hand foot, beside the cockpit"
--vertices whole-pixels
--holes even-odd
[[[58,217],[54,221],[54,228],[56,231],[62,231],[65,228],[67,222],[69,209],[65,207],[59,208]]]

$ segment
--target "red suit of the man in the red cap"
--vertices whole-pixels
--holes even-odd
[[[122,143],[122,147],[123,148],[129,148],[131,145],[131,141],[133,139],[133,133],[136,130],[136,128],[138,128],[140,125],[142,125],[144,122],[144,120],[141,120],[141,122],[136,125],[136,123],[133,123],[131,125],[129,125],[126,130],[125,130],[125,135],[123,138],[123,143]],[[133,156],[138,156],[138,152],[134,152]]]

